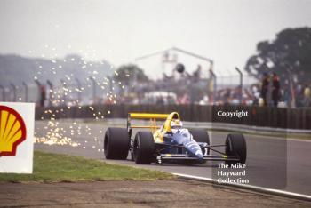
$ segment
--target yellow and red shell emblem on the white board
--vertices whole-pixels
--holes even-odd
[[[20,114],[0,106],[0,156],[16,156],[16,148],[24,140],[26,125]]]

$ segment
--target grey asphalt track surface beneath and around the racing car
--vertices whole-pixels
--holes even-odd
[[[125,122],[124,122],[125,123]],[[65,145],[47,145],[36,143],[36,150],[84,156],[93,159],[104,159],[103,138],[108,126],[100,123],[69,123],[59,121],[58,126],[47,127],[48,121],[37,121],[35,125],[36,137],[46,137],[51,129],[62,128],[60,137],[70,137],[72,141],[80,143],[77,147]],[[65,130],[65,132],[63,132]],[[134,135],[135,132],[133,132]],[[227,132],[209,132],[211,144],[224,144]],[[244,135],[247,143],[246,176],[249,185],[263,188],[275,188],[284,191],[311,196],[311,140],[292,140],[258,135]],[[219,150],[223,150],[218,148]],[[219,162],[206,164],[135,164],[130,160],[107,160],[116,164],[127,164],[141,168],[174,172],[180,174],[225,179],[219,176]],[[52,164],[51,164],[52,165]],[[223,171],[227,171],[221,169]]]

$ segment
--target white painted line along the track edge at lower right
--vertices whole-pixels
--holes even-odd
[[[247,189],[257,190],[257,191],[261,191],[261,192],[267,192],[270,194],[276,194],[276,195],[282,195],[282,196],[292,196],[292,197],[298,197],[298,198],[311,200],[311,196],[309,196],[309,195],[298,194],[298,193],[294,193],[294,192],[290,192],[290,191],[283,191],[283,190],[278,190],[278,189],[273,189],[273,188],[263,188],[263,187],[246,185],[246,184],[218,183],[217,180],[214,180],[211,178],[205,178],[205,177],[187,175],[187,174],[181,174],[181,173],[172,173],[172,174],[177,175],[177,176],[182,177],[182,178],[186,178],[186,179],[209,181],[209,182],[217,183],[219,185],[229,185],[229,186],[233,186],[233,187],[237,187],[237,188],[247,188]]]

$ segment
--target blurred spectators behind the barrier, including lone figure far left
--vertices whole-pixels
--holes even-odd
[[[40,88],[40,106],[46,106],[45,88]],[[69,104],[68,104],[69,103]],[[281,82],[275,73],[265,73],[261,82],[240,86],[223,87],[214,91],[212,80],[200,76],[164,76],[163,79],[148,83],[135,83],[124,90],[116,91],[114,99],[105,95],[87,102],[69,101],[66,105],[92,104],[198,104],[198,105],[247,105],[269,107],[311,107],[311,83],[292,84],[291,81]]]

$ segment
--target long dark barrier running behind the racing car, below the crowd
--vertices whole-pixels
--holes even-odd
[[[50,111],[49,111],[50,110]],[[219,111],[248,112],[248,116],[219,116]],[[58,118],[126,118],[129,112],[171,113],[179,112],[190,122],[243,124],[283,129],[311,129],[311,108],[272,108],[244,106],[200,105],[96,105],[83,107],[36,108],[36,119]],[[99,114],[100,112],[100,114]]]

